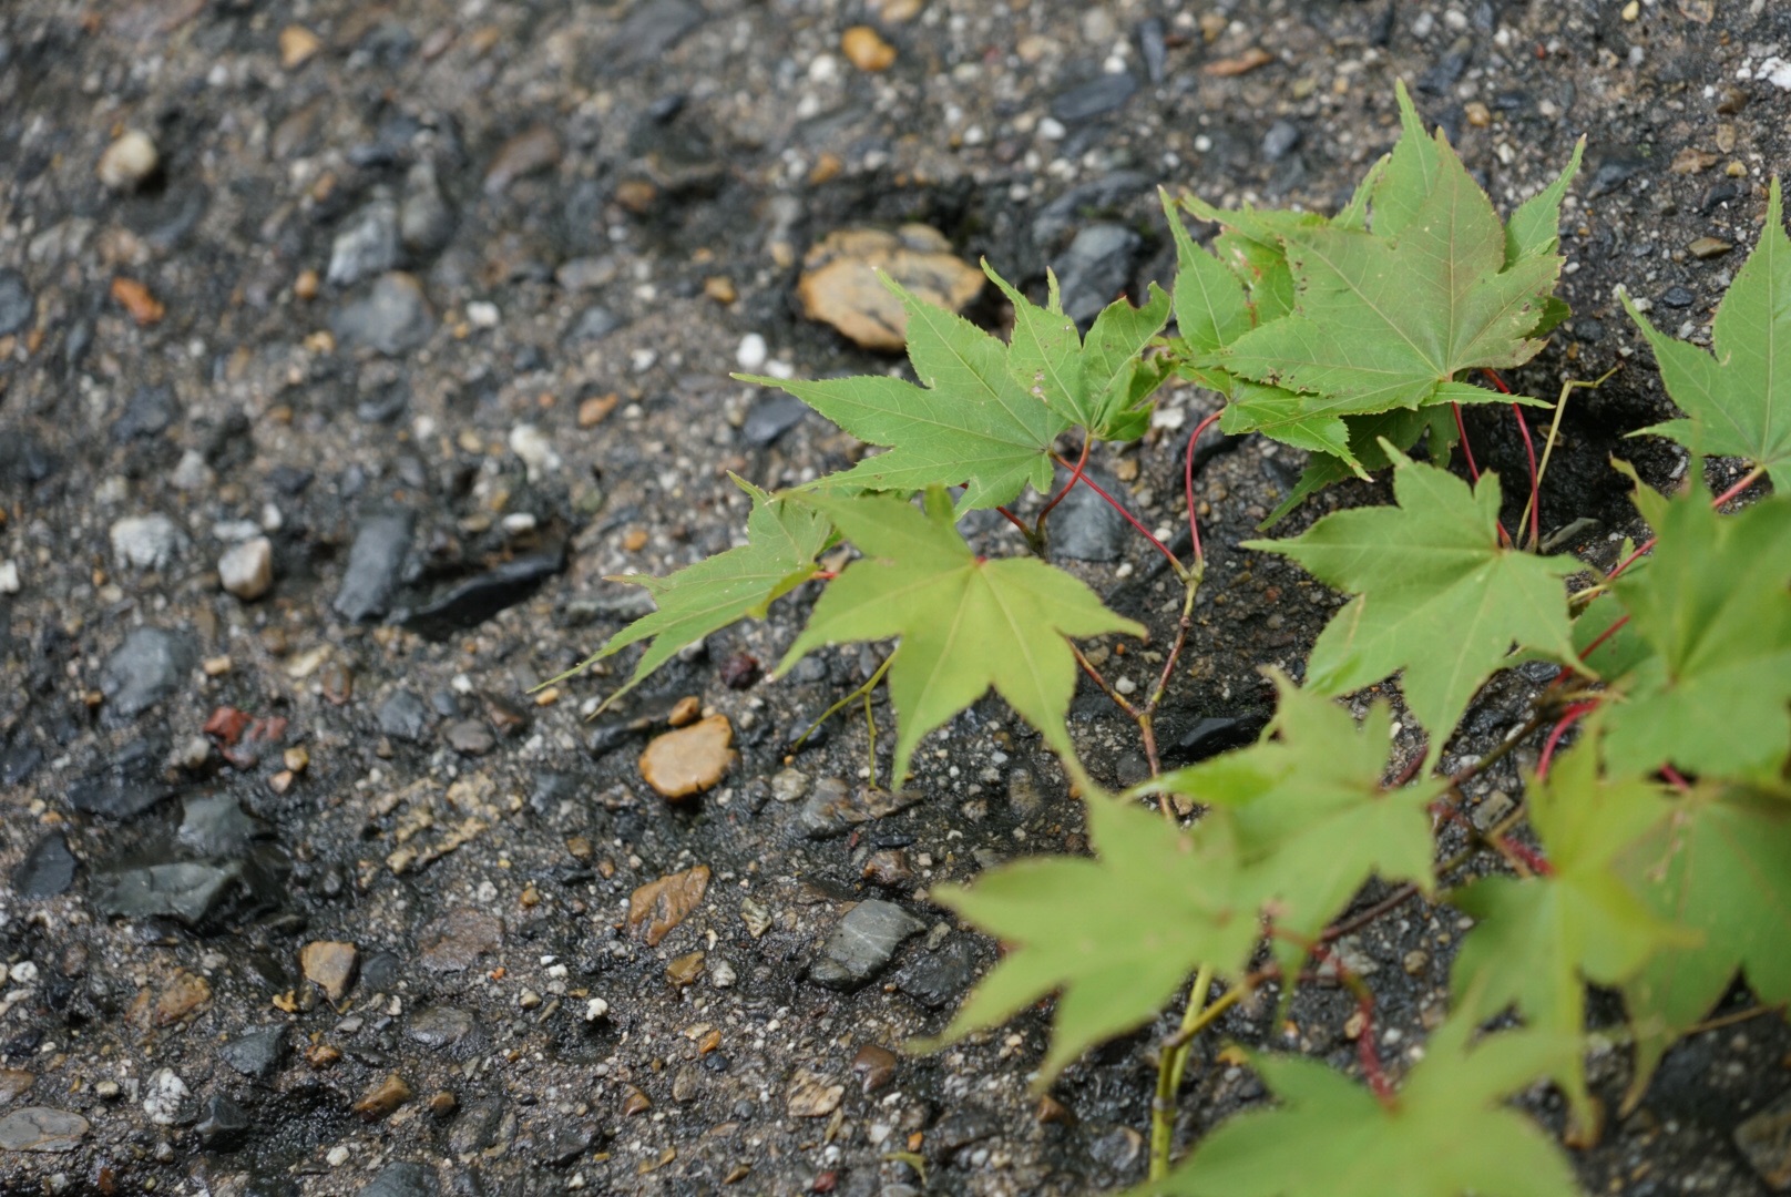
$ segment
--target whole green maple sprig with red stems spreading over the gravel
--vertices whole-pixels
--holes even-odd
[[[888,686],[890,787],[928,735],[990,690],[1032,724],[1078,787],[1094,855],[1035,857],[933,891],[1008,950],[938,1039],[915,1046],[955,1043],[1055,996],[1037,1072],[1046,1088],[1089,1046],[1153,1027],[1180,1003],[1157,1045],[1153,1193],[1574,1193],[1562,1145],[1504,1102],[1555,1084],[1571,1113],[1567,1143],[1598,1138],[1603,1111],[1583,1066],[1589,984],[1621,991],[1628,1009],[1626,1109],[1737,975],[1759,1012],[1782,1016],[1791,1003],[1791,238],[1778,183],[1718,310],[1714,355],[1630,305],[1684,412],[1644,434],[1696,459],[1675,496],[1630,475],[1653,538],[1599,572],[1540,552],[1553,430],[1538,464],[1526,409],[1551,405],[1510,394],[1497,375],[1530,362],[1567,315],[1555,296],[1558,222],[1583,143],[1501,219],[1402,86],[1397,99],[1397,143],[1329,219],[1164,195],[1173,287],[1152,285],[1143,306],[1116,301],[1085,335],[1055,278],[1041,306],[985,265],[1014,306],[1007,342],[892,283],[917,382],[750,378],[885,452],[777,495],[741,482],[747,543],[664,579],[625,579],[657,611],[591,658],[645,643],[614,701],[679,649],[797,597],[810,616],[779,674],[824,645],[896,645],[849,695]],[[1209,245],[1186,217],[1216,226]],[[1220,401],[1182,446],[1187,559],[1084,473],[1094,444],[1150,430],[1170,378]],[[1463,403],[1501,405],[1531,446],[1519,527],[1499,521],[1510,482],[1474,464]],[[1193,448],[1214,423],[1311,455],[1264,529],[1320,487],[1383,469],[1393,504],[1245,545],[1298,563],[1347,600],[1304,683],[1275,676],[1279,710],[1259,744],[1162,772],[1153,719],[1191,649],[1205,573]],[[1447,468],[1456,452],[1465,478]],[[1746,473],[1712,496],[1705,457],[1741,459]],[[1069,480],[1053,493],[1058,468]],[[1761,480],[1775,493],[1730,511]],[[1112,502],[1182,586],[1161,676],[1137,692],[1109,685],[1078,642],[1146,629],[1044,559],[1051,511],[1076,486]],[[1030,520],[1014,507],[1026,489],[1042,496]],[[1007,518],[1010,554],[969,548],[956,521],[973,509]],[[840,545],[856,559],[822,572],[820,554]],[[1499,747],[1445,772],[1445,747],[1481,686],[1538,659],[1555,679],[1530,688]],[[1101,790],[1076,756],[1067,711],[1084,677],[1137,724],[1152,778],[1130,794]],[[1334,702],[1395,679],[1426,735],[1410,762],[1390,758],[1386,702],[1359,722]],[[870,744],[876,778],[874,733]],[[1535,745],[1533,776],[1503,781],[1522,788],[1521,801],[1497,822],[1470,821],[1467,785],[1521,744]],[[1204,814],[1177,815],[1187,810]],[[1440,849],[1445,828],[1467,830],[1463,851]],[[1384,896],[1361,903],[1370,882]],[[1334,946],[1418,898],[1474,926],[1422,1063],[1383,1061],[1374,991]],[[1252,1055],[1273,1106],[1177,1143],[1195,1041],[1232,1007],[1264,993],[1286,1002],[1307,984],[1352,998],[1354,1075]],[[1508,1014],[1521,1029],[1485,1030]]]

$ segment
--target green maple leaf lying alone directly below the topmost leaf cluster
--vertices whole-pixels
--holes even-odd
[[[1399,507],[1325,516],[1302,536],[1245,541],[1293,557],[1354,598],[1318,634],[1306,685],[1349,693],[1404,670],[1406,706],[1442,754],[1474,692],[1512,643],[1572,659],[1567,593],[1572,557],[1499,545],[1499,478],[1467,484],[1386,446]]]

